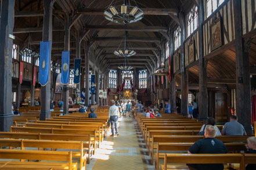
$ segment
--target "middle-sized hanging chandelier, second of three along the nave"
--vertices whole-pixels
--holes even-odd
[[[120,46],[121,46],[123,40],[124,40],[124,48],[122,49],[122,48],[120,48]],[[127,46],[130,49],[127,49]],[[125,33],[124,33],[124,37],[122,38],[117,50],[114,51],[114,54],[119,57],[131,57],[136,54],[136,52],[134,50],[132,50],[132,47],[129,45],[129,43],[128,42],[126,43],[126,34]]]

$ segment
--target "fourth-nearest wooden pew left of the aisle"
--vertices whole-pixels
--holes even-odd
[[[93,142],[94,152],[99,141],[97,139],[96,130],[74,130],[74,129],[59,129],[59,128],[33,128],[33,127],[10,127],[10,132],[31,132],[42,134],[72,134],[72,135],[91,135],[91,141]],[[79,140],[80,141],[80,140]]]

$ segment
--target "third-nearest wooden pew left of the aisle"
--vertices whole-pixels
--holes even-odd
[[[36,133],[17,133],[17,132],[0,132],[0,138],[5,139],[38,139],[53,141],[82,141],[83,149],[87,150],[88,163],[91,161],[94,152],[90,135],[71,135],[71,134],[36,134]],[[12,144],[14,145],[14,144]],[[8,146],[8,145],[7,145]],[[19,147],[19,146],[13,146]]]

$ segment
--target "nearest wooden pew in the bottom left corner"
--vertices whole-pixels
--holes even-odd
[[[72,162],[72,151],[0,149],[0,159],[66,162],[0,161],[0,166],[6,169],[77,169],[77,163]]]

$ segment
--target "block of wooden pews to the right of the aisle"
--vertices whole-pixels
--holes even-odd
[[[189,169],[186,164],[255,164],[255,154],[246,152],[249,136],[216,136],[225,143],[228,154],[187,154],[194,142],[203,139],[197,135],[204,124],[203,121],[188,119],[178,114],[161,114],[162,117],[146,118],[137,115],[138,128],[146,144],[152,165],[161,169]],[[222,126],[218,126],[222,130]],[[162,164],[160,164],[162,162]],[[185,165],[177,165],[185,164]],[[228,168],[225,166],[225,168]]]

